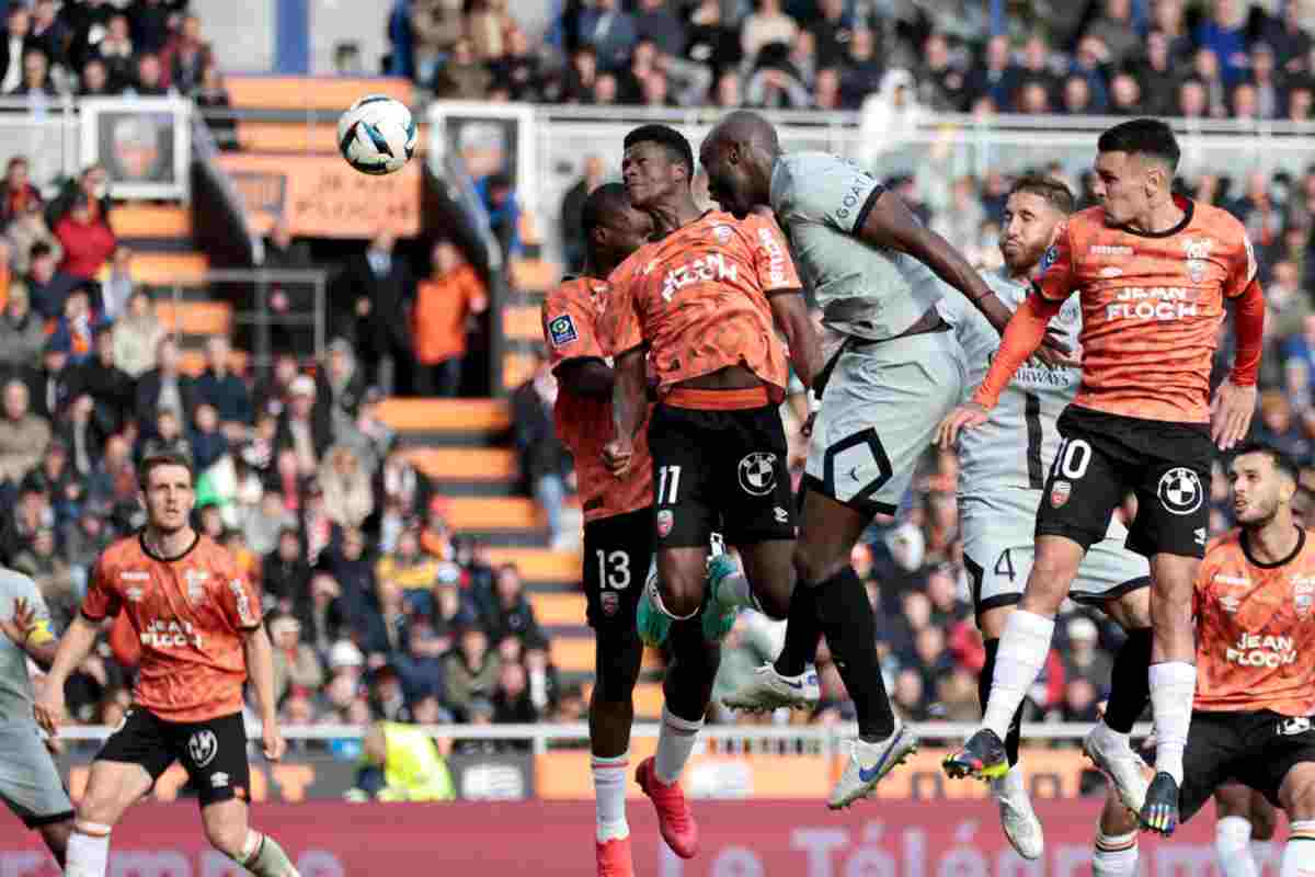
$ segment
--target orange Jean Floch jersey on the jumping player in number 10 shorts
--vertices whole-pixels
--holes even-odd
[[[1231,214],[1178,197],[1182,224],[1139,234],[1102,208],[1073,214],[1047,254],[1039,293],[1082,301],[1082,388],[1074,405],[1152,421],[1210,419],[1210,360],[1224,298],[1256,277],[1247,230]]]

